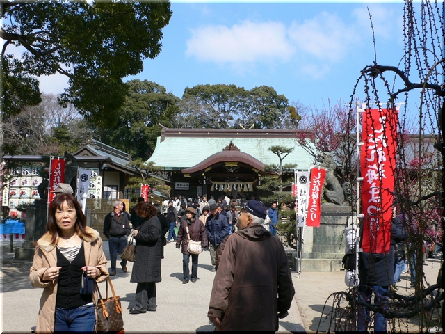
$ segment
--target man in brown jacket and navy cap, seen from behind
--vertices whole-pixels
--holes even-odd
[[[277,331],[295,289],[281,241],[261,226],[266,207],[249,200],[227,238],[207,316],[218,331]]]

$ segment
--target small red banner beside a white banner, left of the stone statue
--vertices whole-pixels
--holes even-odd
[[[321,190],[325,183],[326,170],[314,167],[311,170],[311,183],[309,184],[309,203],[307,207],[306,226],[318,228],[321,216]]]

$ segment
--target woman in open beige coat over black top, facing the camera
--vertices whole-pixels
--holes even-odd
[[[47,233],[37,241],[29,278],[42,287],[36,333],[95,331],[95,294],[80,294],[82,273],[108,277],[99,232],[86,226],[79,202],[60,193],[49,207]]]

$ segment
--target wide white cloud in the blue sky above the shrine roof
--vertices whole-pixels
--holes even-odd
[[[254,73],[259,63],[271,70],[278,63],[293,63],[300,73],[320,78],[361,43],[354,24],[321,13],[290,26],[249,20],[233,26],[203,26],[191,29],[186,56],[225,66],[238,75]]]

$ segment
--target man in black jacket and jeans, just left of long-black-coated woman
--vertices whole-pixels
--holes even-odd
[[[113,202],[113,211],[105,216],[104,235],[108,238],[110,249],[111,272],[110,276],[116,274],[116,259],[122,253],[128,243],[128,236],[131,233],[130,223],[127,214],[122,214],[124,203],[120,200]],[[127,260],[120,262],[122,271],[127,272]]]

